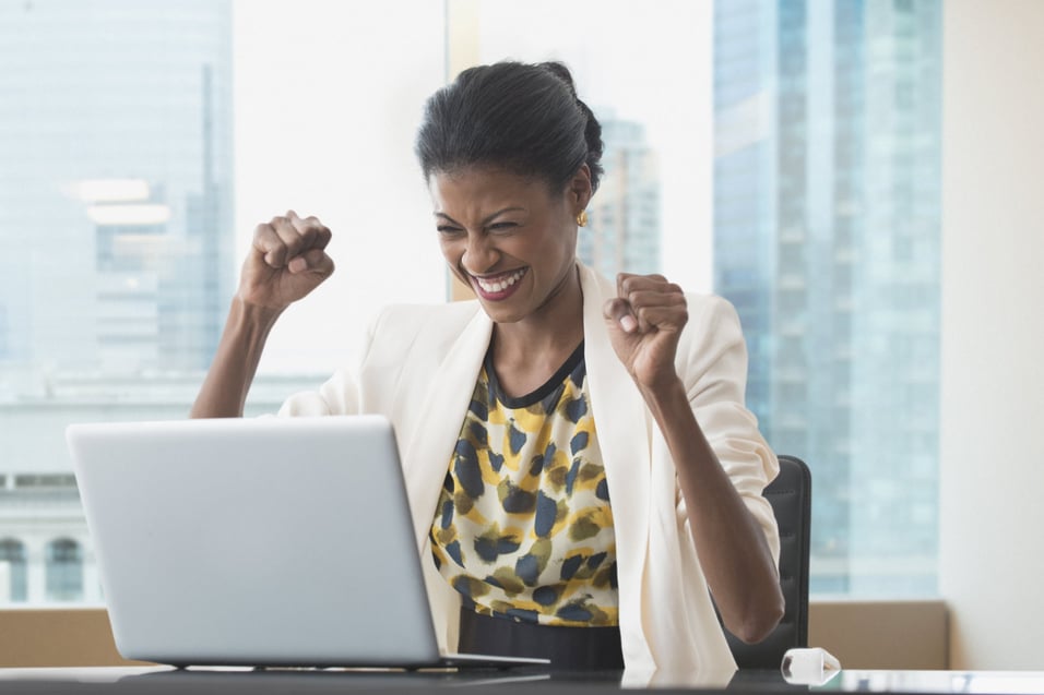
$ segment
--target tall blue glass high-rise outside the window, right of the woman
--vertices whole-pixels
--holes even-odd
[[[933,592],[937,0],[715,5],[715,289],[815,482],[812,589]]]

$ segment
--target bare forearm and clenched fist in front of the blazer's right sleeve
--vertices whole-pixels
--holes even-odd
[[[747,510],[696,419],[675,369],[688,309],[659,275],[621,274],[605,319],[617,356],[645,399],[675,462],[696,551],[725,626],[759,642],[783,616],[779,572],[764,531]]]

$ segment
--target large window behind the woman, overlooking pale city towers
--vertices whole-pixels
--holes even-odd
[[[0,603],[100,600],[62,431],[185,417],[258,223],[317,214],[337,273],[248,414],[446,297],[420,107],[507,57],[603,123],[581,256],[737,307],[748,405],[816,479],[812,589],[933,592],[938,0],[637,4],[0,0]]]

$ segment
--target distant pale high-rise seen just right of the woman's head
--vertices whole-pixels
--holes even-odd
[[[607,277],[619,272],[659,273],[661,212],[660,172],[655,153],[645,142],[644,125],[600,118],[605,175],[591,199],[591,220],[580,230],[578,253]]]

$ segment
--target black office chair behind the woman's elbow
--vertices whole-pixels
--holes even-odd
[[[780,475],[764,489],[780,526],[780,588],[783,620],[758,644],[748,645],[727,630],[725,638],[740,669],[779,669],[783,654],[808,646],[808,546],[811,474],[805,462],[781,455]]]

